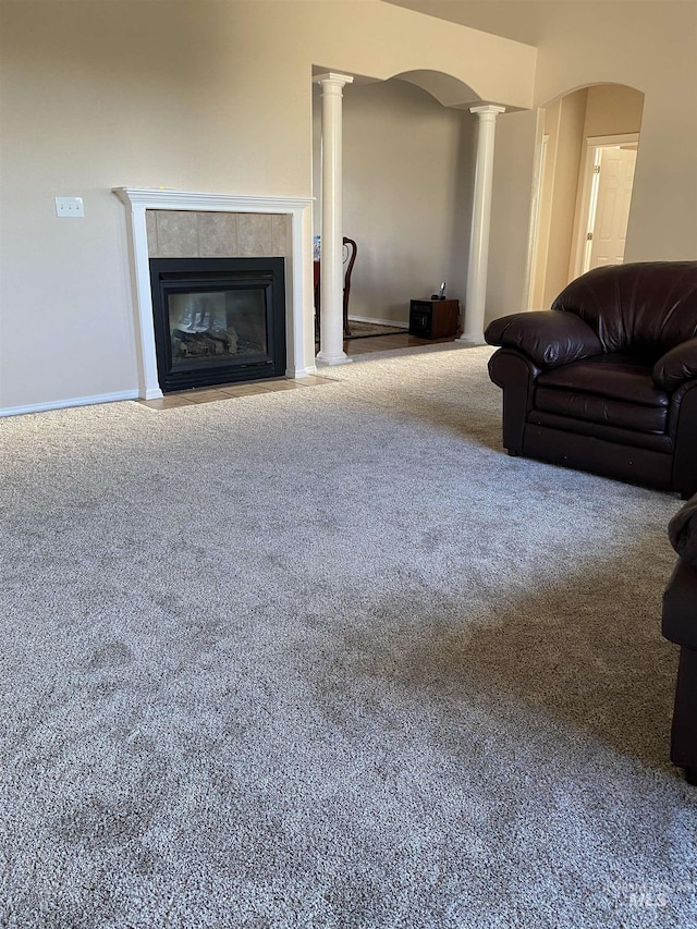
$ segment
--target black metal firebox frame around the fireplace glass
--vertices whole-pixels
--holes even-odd
[[[150,258],[157,370],[163,393],[253,381],[285,374],[284,258]],[[225,356],[210,365],[193,358],[174,368],[169,323],[169,296],[188,292],[261,290],[266,313],[267,352]]]

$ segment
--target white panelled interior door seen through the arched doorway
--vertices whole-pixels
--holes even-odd
[[[636,149],[601,148],[588,267],[621,265],[632,203]]]

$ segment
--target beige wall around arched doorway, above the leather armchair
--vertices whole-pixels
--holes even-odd
[[[645,94],[625,258],[695,258],[697,4],[606,2],[592,16],[587,4],[562,5],[566,15],[558,10],[550,24],[553,52],[540,46],[538,99],[599,81]]]

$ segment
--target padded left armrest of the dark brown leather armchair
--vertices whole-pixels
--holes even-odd
[[[494,319],[484,338],[490,345],[523,352],[541,368],[555,368],[602,354],[600,340],[587,322],[573,313],[553,309],[514,313]]]

